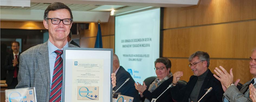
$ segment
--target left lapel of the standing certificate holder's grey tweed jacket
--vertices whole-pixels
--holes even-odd
[[[39,50],[37,55],[38,60],[38,68],[41,73],[41,78],[43,80],[44,85],[46,86],[47,93],[50,92],[50,65],[49,65],[49,52],[48,52],[48,44],[43,43],[43,46]],[[48,95],[49,96],[49,95]]]

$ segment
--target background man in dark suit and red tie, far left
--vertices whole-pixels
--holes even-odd
[[[11,47],[12,54],[7,55],[5,60],[6,84],[8,84],[8,89],[15,89],[18,84],[20,43],[13,41]]]

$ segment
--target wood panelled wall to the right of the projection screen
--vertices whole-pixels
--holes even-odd
[[[196,6],[164,8],[162,53],[171,60],[171,71],[183,71],[181,80],[188,81],[193,75],[188,57],[200,50],[209,53],[212,73],[219,66],[233,68],[234,81],[249,81],[255,12],[255,0],[201,0]]]

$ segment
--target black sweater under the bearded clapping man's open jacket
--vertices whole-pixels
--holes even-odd
[[[197,76],[198,79],[197,79],[197,81],[196,81],[196,84],[195,84],[195,86],[194,86],[194,89],[192,90],[192,92],[191,92],[191,94],[190,94],[190,102],[191,102],[191,101],[193,101],[193,102],[196,102],[196,101],[197,101],[197,97],[198,97],[199,92],[200,92],[200,89],[201,89],[201,87],[202,87],[202,85],[203,85],[203,81],[205,80],[205,77],[206,77],[206,75],[207,75],[207,73],[208,73],[208,70],[209,70],[209,69],[207,69],[207,70],[205,71],[205,73],[203,73],[202,75]]]

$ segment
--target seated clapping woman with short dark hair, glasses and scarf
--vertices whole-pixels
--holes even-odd
[[[157,74],[157,78],[150,84],[147,89],[145,82],[143,85],[134,84],[135,89],[137,89],[140,93],[141,100],[144,102],[151,102],[152,98],[157,98],[160,96],[172,83],[173,74],[171,73],[171,61],[167,58],[158,58],[155,60],[155,73]],[[170,89],[166,90],[159,98],[157,98],[156,102],[172,102]]]

